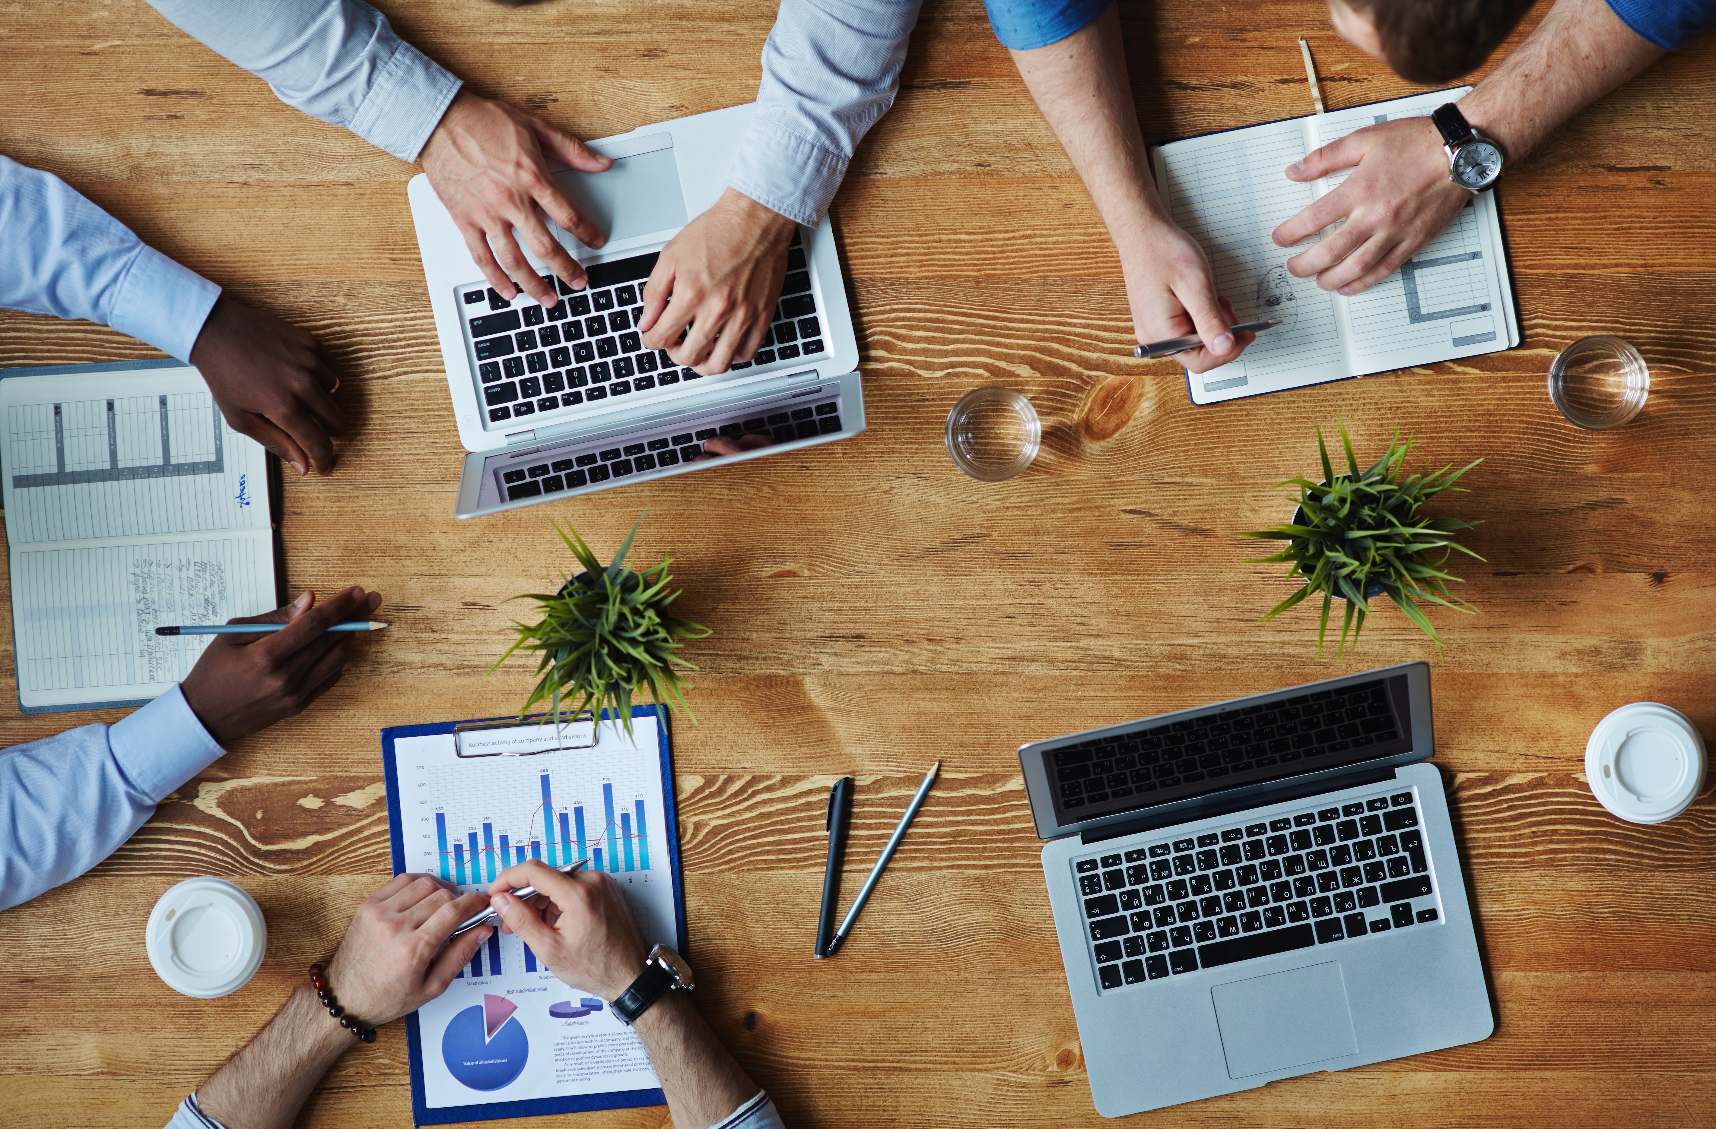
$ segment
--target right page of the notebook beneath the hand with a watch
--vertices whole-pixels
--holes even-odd
[[[1375,106],[1311,118],[1318,146],[1375,125],[1429,113],[1471,88],[1431,91]],[[1325,178],[1332,192],[1347,172]],[[1321,192],[1320,192],[1321,194]],[[1357,372],[1491,353],[1517,343],[1507,295],[1495,194],[1483,192],[1407,263],[1361,295],[1347,299]]]

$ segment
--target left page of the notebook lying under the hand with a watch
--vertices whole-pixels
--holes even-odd
[[[1239,360],[1193,376],[1198,401],[1206,393],[1256,395],[1352,374],[1333,299],[1285,268],[1318,237],[1296,247],[1277,247],[1270,238],[1314,199],[1313,185],[1294,184],[1284,173],[1306,151],[1297,120],[1191,137],[1155,151],[1165,202],[1210,257],[1217,293],[1234,304],[1239,321],[1284,319]]]

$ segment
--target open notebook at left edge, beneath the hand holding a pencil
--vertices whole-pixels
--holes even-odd
[[[26,714],[142,705],[225,623],[280,601],[269,458],[196,369],[142,360],[0,374],[0,492]]]

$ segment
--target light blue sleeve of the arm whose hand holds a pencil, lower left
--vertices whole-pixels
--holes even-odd
[[[0,750],[0,909],[100,863],[220,755],[178,686],[113,726]]]

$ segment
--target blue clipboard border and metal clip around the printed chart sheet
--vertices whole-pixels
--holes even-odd
[[[388,789],[388,844],[393,863],[393,873],[405,873],[407,870],[407,846],[405,846],[405,817],[402,813],[402,788],[400,788],[400,760],[398,760],[398,741],[405,738],[424,738],[424,736],[455,736],[462,733],[482,733],[484,729],[499,728],[517,728],[520,724],[529,724],[532,721],[541,721],[547,717],[546,714],[530,717],[482,717],[462,722],[438,722],[426,726],[391,726],[381,731],[381,757],[383,770]],[[614,721],[614,710],[602,710],[604,722]],[[673,750],[671,750],[671,733],[668,728],[668,712],[659,705],[635,705],[631,707],[631,717],[654,717],[657,719],[657,745],[661,755],[661,818],[662,832],[668,848],[668,873],[671,877],[673,889],[673,933],[674,947],[683,954],[688,949],[686,928],[685,928],[685,889],[680,877],[680,817],[678,805],[674,801],[673,788]],[[553,733],[553,722],[549,722],[549,733]],[[597,726],[599,728],[599,726]],[[566,743],[565,748],[544,748],[539,752],[599,752],[597,743],[589,746],[575,746],[575,743]],[[458,765],[480,769],[484,765],[492,765],[496,770],[517,770],[520,765],[534,765],[535,757],[523,755],[496,755],[494,760],[472,758],[463,753],[456,753]],[[467,884],[468,885],[468,884]],[[456,981],[455,981],[456,983]],[[566,988],[571,992],[571,988]],[[616,1110],[631,1108],[645,1105],[666,1105],[666,1095],[661,1088],[647,1090],[613,1090],[602,1093],[583,1093],[583,1095],[563,1095],[549,1098],[527,1098],[517,1102],[484,1102],[474,1105],[443,1105],[431,1108],[427,1103],[427,1088],[424,1079],[424,1031],[419,1014],[412,1012],[405,1017],[407,1026],[407,1050],[410,1057],[410,1083],[412,1083],[412,1119],[417,1126],[444,1126],[453,1122],[468,1120],[496,1120],[503,1117],[542,1117],[547,1114],[582,1114],[590,1110]]]

